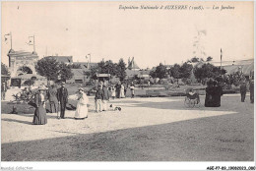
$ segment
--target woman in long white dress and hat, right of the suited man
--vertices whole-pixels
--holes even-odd
[[[85,119],[88,118],[88,107],[89,98],[83,88],[79,88],[79,98],[78,98],[77,110],[75,112],[75,119]]]

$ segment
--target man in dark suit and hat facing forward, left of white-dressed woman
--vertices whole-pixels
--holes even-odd
[[[57,98],[60,106],[60,118],[65,119],[65,109],[68,102],[68,89],[65,87],[64,82],[57,90]]]

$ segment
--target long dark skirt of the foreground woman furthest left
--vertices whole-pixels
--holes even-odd
[[[32,124],[33,125],[45,125],[45,124],[47,124],[46,110],[43,107],[43,105],[39,105],[39,107],[37,107],[35,109]]]

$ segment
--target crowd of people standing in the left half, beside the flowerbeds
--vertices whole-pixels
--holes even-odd
[[[88,118],[89,98],[86,90],[80,87],[75,96],[69,95],[65,85],[64,82],[61,83],[59,88],[57,88],[57,85],[50,85],[48,88],[45,85],[40,85],[37,92],[33,95],[31,94],[32,102],[30,104],[35,107],[32,124],[45,125],[47,123],[45,108],[46,100],[48,100],[50,105],[49,112],[56,113],[58,119],[65,119],[65,110],[69,98],[78,100],[77,106],[74,107],[74,109],[76,109],[74,119],[81,120]],[[128,85],[126,85],[126,87],[128,87]],[[131,97],[133,98],[135,86],[131,84],[129,87],[131,89]],[[112,99],[124,98],[126,96],[126,91],[127,88],[125,88],[125,85],[122,83],[108,86],[106,83],[99,82],[98,85],[96,85],[95,95],[96,113],[108,110],[107,102],[110,99],[110,95]]]

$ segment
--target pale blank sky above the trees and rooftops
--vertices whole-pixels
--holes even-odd
[[[122,10],[119,6],[188,5],[208,10]],[[230,6],[233,10],[213,10]],[[2,2],[2,62],[13,49],[32,52],[35,36],[39,58],[73,56],[92,62],[135,58],[141,68],[172,65],[196,54],[220,61],[254,58],[253,2]],[[9,36],[6,36],[9,38]],[[196,42],[198,41],[198,42]],[[198,55],[199,56],[199,55]]]

